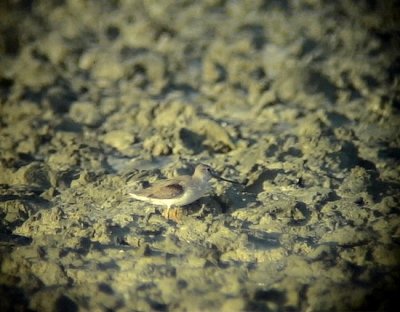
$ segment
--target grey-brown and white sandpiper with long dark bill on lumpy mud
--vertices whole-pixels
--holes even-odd
[[[211,190],[210,179],[216,178],[230,183],[238,183],[217,175],[207,165],[199,164],[192,176],[183,175],[163,180],[140,191],[130,193],[130,196],[147,203],[166,206],[184,206],[203,197]]]

